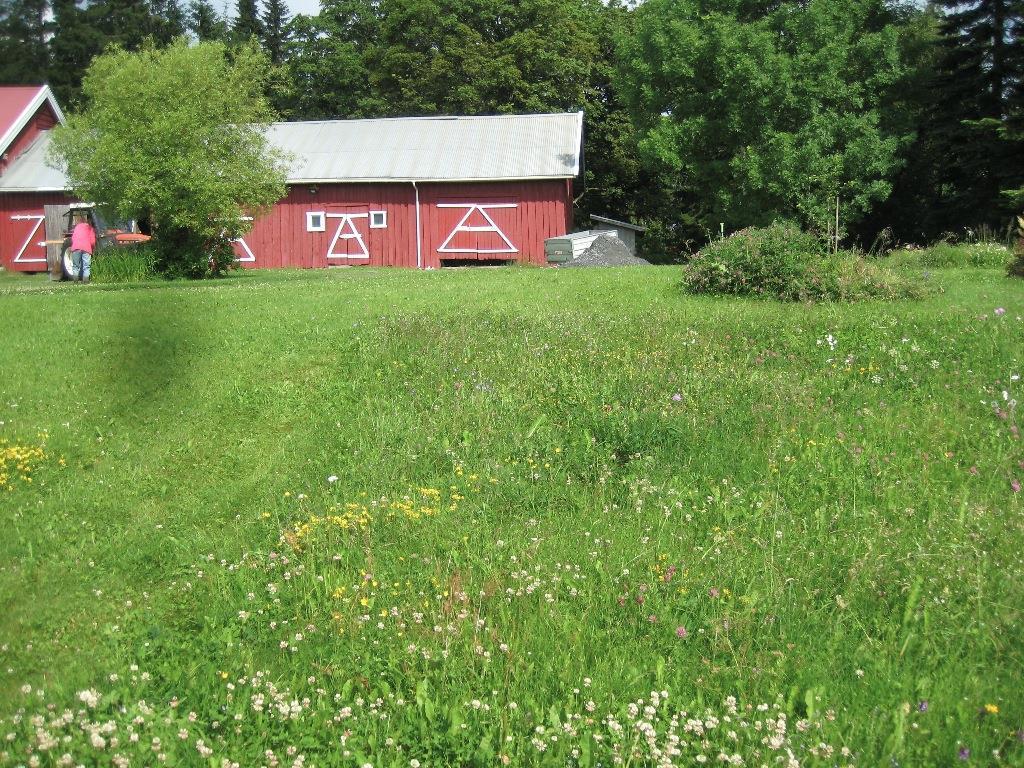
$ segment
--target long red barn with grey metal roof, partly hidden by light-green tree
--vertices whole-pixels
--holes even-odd
[[[236,244],[239,261],[543,264],[544,241],[571,225],[582,132],[582,113],[275,123],[270,141],[292,159],[288,195]],[[37,220],[43,202],[61,202],[54,184],[67,183],[45,166],[48,143],[39,135],[0,176],[5,221],[26,215],[26,196],[36,196]],[[14,191],[23,196],[16,212],[6,202]],[[45,266],[12,258],[14,244],[0,240],[0,247],[5,266]]]

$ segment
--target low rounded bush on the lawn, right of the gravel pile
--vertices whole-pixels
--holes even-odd
[[[898,299],[922,294],[908,281],[858,254],[826,253],[795,224],[742,229],[708,245],[686,266],[692,293],[766,296],[783,301]]]

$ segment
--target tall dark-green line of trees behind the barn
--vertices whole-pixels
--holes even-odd
[[[778,218],[867,247],[1007,232],[1022,28],[1024,0],[0,0],[0,82],[74,109],[109,45],[256,40],[287,120],[583,110],[577,220],[667,257]]]

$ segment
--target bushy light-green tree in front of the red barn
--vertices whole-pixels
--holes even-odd
[[[53,136],[72,188],[122,218],[154,225],[162,266],[206,273],[230,263],[245,220],[285,195],[286,159],[267,143],[269,69],[253,46],[109,50],[83,83],[84,112]],[[191,98],[189,94],[201,94]]]

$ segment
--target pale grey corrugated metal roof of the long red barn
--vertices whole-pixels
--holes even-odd
[[[490,181],[580,173],[583,113],[273,123],[271,144],[294,159],[290,183]],[[65,189],[41,136],[0,177],[0,189]]]

